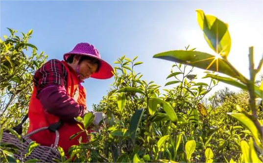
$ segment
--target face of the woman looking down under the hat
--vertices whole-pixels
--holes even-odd
[[[79,78],[84,80],[89,78],[94,72],[96,72],[98,65],[96,63],[91,63],[90,60],[83,60],[79,65]]]

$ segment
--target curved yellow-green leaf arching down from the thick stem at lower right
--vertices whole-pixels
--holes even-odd
[[[258,129],[250,118],[248,118],[242,113],[227,113],[227,114],[234,117],[240,123],[242,123],[251,132],[251,135],[254,137],[254,139],[260,142],[258,137]]]

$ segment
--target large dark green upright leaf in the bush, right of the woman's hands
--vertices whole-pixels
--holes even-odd
[[[136,131],[140,125],[144,109],[138,109],[131,117],[129,134],[133,142],[135,142]]]

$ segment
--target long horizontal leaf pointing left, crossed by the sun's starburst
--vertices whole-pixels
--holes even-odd
[[[153,57],[190,65],[204,70],[218,71],[232,77],[239,76],[239,74],[232,70],[224,60],[205,52],[172,50],[155,54]]]

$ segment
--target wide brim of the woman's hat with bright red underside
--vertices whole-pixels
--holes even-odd
[[[92,78],[95,79],[109,79],[113,76],[113,68],[110,64],[108,64],[106,61],[92,55],[92,54],[87,54],[87,53],[78,53],[78,52],[68,52],[65,53],[63,58],[66,61],[67,58],[72,55],[72,54],[77,54],[77,55],[83,55],[83,56],[89,56],[92,58],[96,58],[100,61],[100,67],[99,70],[91,75]]]

